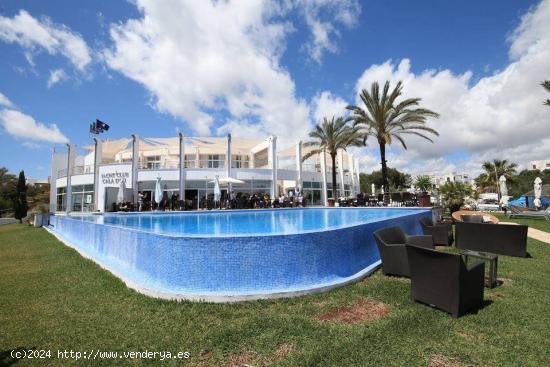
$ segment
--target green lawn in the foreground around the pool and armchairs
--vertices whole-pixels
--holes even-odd
[[[46,365],[86,364],[56,359],[57,350],[70,349],[188,351],[189,366],[550,365],[550,244],[529,240],[528,250],[529,259],[501,257],[498,275],[509,281],[486,290],[488,304],[478,313],[455,320],[413,303],[408,280],[380,271],[334,291],[286,300],[228,305],[152,299],[45,230],[2,226],[0,365],[17,347],[52,350],[52,359],[41,361]],[[387,304],[389,313],[351,325],[318,319],[364,298]]]

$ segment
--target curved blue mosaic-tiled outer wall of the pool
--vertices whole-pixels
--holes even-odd
[[[269,298],[354,279],[379,264],[375,230],[397,225],[408,234],[421,234],[421,216],[429,217],[431,211],[335,230],[273,236],[176,237],[70,216],[52,216],[49,230],[147,294],[206,300]]]

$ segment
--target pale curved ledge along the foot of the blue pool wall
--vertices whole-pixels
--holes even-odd
[[[326,292],[331,289],[339,288],[348,284],[356,283],[360,281],[361,279],[369,276],[372,274],[376,269],[378,269],[381,264],[382,260],[378,260],[374,262],[373,264],[367,266],[366,268],[362,269],[361,271],[350,275],[349,277],[344,277],[341,279],[338,279],[337,281],[327,282],[327,283],[321,283],[319,285],[314,286],[313,288],[296,288],[288,291],[277,291],[277,290],[269,290],[265,293],[262,292],[255,292],[255,293],[232,293],[232,294],[225,294],[225,293],[216,293],[216,292],[206,292],[206,293],[177,293],[177,292],[163,292],[163,291],[154,291],[149,288],[144,288],[139,285],[137,285],[135,282],[129,280],[121,273],[114,271],[107,266],[105,266],[100,260],[88,255],[85,251],[80,250],[77,246],[73,245],[72,242],[64,238],[61,234],[55,232],[52,230],[52,228],[49,227],[43,227],[46,231],[48,231],[50,234],[52,234],[57,240],[62,242],[64,245],[72,248],[76,252],[78,252],[83,258],[91,260],[94,264],[100,266],[103,270],[106,270],[107,272],[111,273],[116,278],[122,280],[122,282],[128,287],[133,290],[135,290],[138,293],[141,293],[143,295],[158,298],[158,299],[165,299],[165,300],[173,300],[173,301],[194,301],[194,302],[208,302],[208,303],[237,303],[237,302],[247,302],[247,301],[257,301],[257,300],[271,300],[271,299],[280,299],[280,298],[291,298],[291,297],[299,297],[304,296],[308,294],[316,294],[321,292]]]

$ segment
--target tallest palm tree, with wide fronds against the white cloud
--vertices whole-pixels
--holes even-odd
[[[419,107],[421,98],[409,98],[397,103],[401,96],[403,83],[399,82],[390,92],[390,82],[387,81],[380,95],[378,82],[371,85],[370,93],[363,89],[360,97],[365,109],[358,106],[347,106],[352,111],[350,120],[353,126],[362,126],[365,137],[376,138],[380,145],[380,163],[382,164],[382,179],[384,186],[384,203],[389,203],[388,169],[386,166],[386,145],[391,145],[393,139],[398,140],[407,149],[403,135],[416,135],[433,142],[426,133],[438,136],[438,132],[426,126],[428,117],[438,117],[439,114]]]

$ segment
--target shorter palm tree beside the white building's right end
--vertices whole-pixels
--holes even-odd
[[[317,124],[309,133],[309,137],[313,140],[305,142],[303,146],[314,147],[314,149],[305,154],[302,161],[321,152],[330,155],[332,160],[332,197],[336,199],[336,154],[340,149],[346,150],[351,146],[358,147],[365,144],[360,129],[349,126],[342,117],[332,117],[330,120],[325,117],[323,122],[320,125]]]

